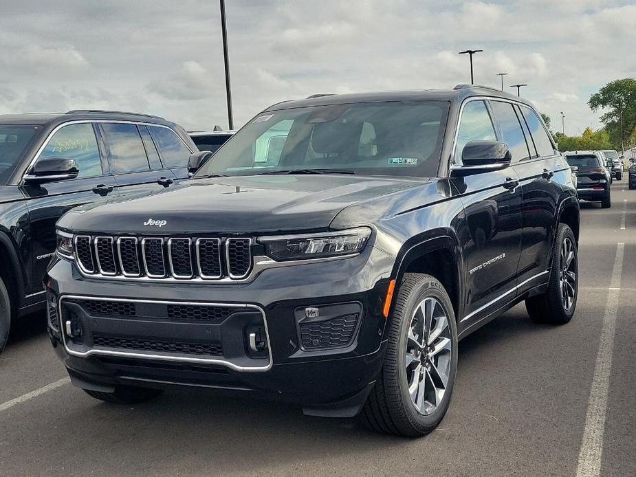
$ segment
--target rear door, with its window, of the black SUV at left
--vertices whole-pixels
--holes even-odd
[[[153,195],[174,183],[144,124],[102,122],[100,133],[121,198]]]

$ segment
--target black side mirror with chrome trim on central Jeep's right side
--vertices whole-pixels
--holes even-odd
[[[461,151],[461,166],[452,166],[452,175],[486,173],[490,170],[505,169],[510,165],[512,155],[505,142],[471,141]]]

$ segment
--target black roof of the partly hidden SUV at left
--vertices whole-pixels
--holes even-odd
[[[74,109],[66,113],[22,113],[0,114],[0,124],[49,124],[73,120],[128,120],[168,124],[160,116],[128,111],[105,111],[100,109]]]

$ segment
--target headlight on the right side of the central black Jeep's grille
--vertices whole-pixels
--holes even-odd
[[[265,254],[274,260],[307,260],[359,254],[371,229],[360,227],[321,234],[259,237]]]

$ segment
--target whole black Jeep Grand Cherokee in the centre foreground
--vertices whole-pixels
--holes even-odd
[[[49,331],[105,401],[227,388],[417,436],[461,337],[523,300],[570,320],[578,230],[571,170],[514,96],[282,102],[187,184],[65,214]]]

